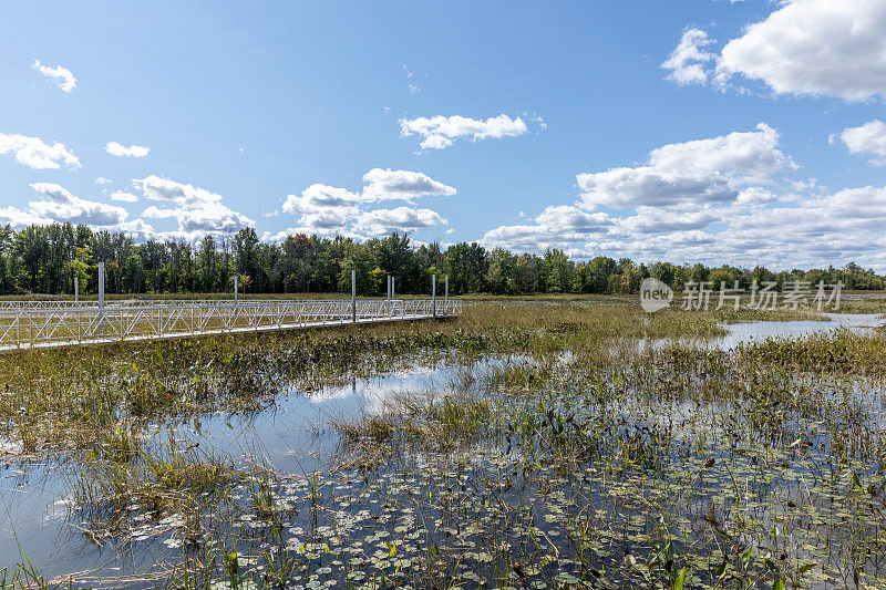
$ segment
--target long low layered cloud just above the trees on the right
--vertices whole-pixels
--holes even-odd
[[[606,253],[636,260],[732,263],[771,269],[836,267],[856,261],[886,269],[886,187],[832,194],[779,195],[725,206],[638,207],[611,219],[608,230],[570,235],[558,226],[505,226],[487,246],[542,251],[559,247],[583,257]]]

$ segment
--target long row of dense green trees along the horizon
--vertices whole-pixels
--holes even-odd
[[[259,240],[254,228],[207,235],[199,244],[148,240],[87,226],[54,224],[21,230],[0,227],[0,294],[70,294],[74,277],[83,293],[97,289],[97,265],[105,263],[109,293],[230,292],[236,275],[250,293],[350,292],[357,270],[361,296],[384,294],[387,276],[401,293],[427,293],[431,277],[450,277],[453,294],[633,293],[647,277],[679,290],[690,281],[843,281],[845,289],[884,289],[886,278],[854,262],[844,268],[772,272],[731,266],[637,263],[598,256],[571,260],[549,249],[543,256],[486,249],[476,242],[413,247],[409,236],[392,234],[358,242],[351,238],[288,236],[279,244]]]

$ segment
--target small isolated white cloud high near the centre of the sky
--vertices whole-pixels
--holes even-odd
[[[422,136],[420,146],[423,149],[443,149],[461,138],[477,142],[491,137],[515,137],[529,130],[521,117],[511,118],[505,114],[486,120],[460,115],[400,120],[400,135]]]

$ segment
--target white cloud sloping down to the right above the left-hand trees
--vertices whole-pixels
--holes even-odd
[[[222,195],[192,184],[151,175],[133,180],[148,200],[171,201],[175,207],[147,207],[142,217],[175,219],[183,236],[196,237],[219,231],[236,231],[255,222],[222,203]]]

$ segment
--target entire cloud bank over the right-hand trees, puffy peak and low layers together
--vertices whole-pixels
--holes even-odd
[[[875,153],[869,142],[863,145],[865,153]],[[533,222],[486,231],[482,242],[536,252],[560,248],[585,258],[602,253],[773,269],[789,261],[823,267],[854,260],[886,270],[886,187],[828,192],[815,179],[785,176],[795,167],[777,149],[777,133],[765,125],[745,134],[670,144],[652,151],[642,166],[616,169],[707,182],[700,186],[712,186],[711,194],[635,197],[640,194],[636,186],[625,193],[624,186],[598,182],[595,195],[605,198],[587,203],[585,195],[574,205],[549,206]],[[619,207],[597,210],[601,204]]]

